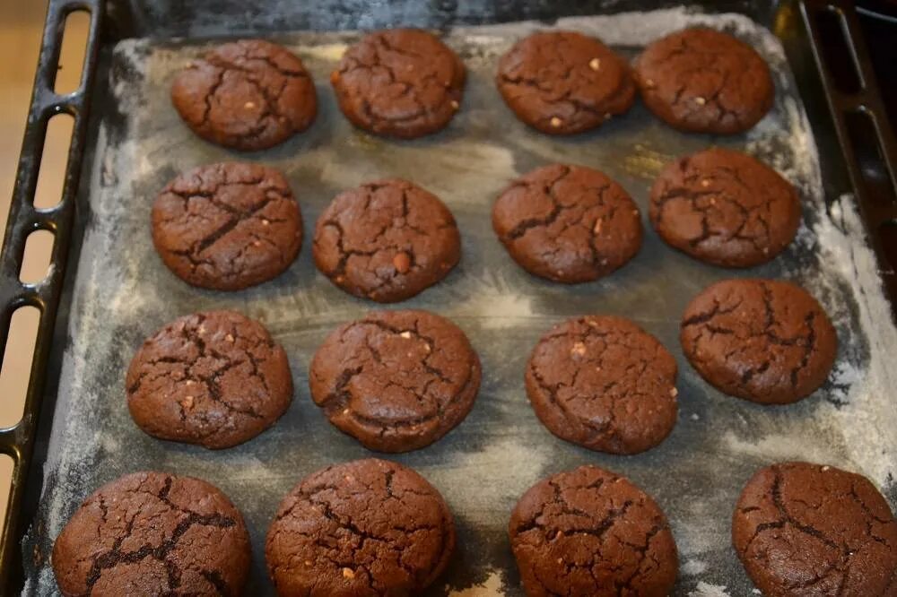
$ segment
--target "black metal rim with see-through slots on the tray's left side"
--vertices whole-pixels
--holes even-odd
[[[71,93],[55,90],[57,69],[65,33],[65,22],[74,12],[89,13],[90,24],[84,51],[80,84]],[[34,351],[30,366],[22,419],[10,427],[0,428],[0,454],[13,460],[12,486],[7,501],[3,532],[0,534],[0,594],[19,592],[22,582],[22,533],[30,520],[23,514],[23,497],[29,478],[34,437],[43,402],[44,381],[50,343],[56,323],[59,297],[65,276],[68,247],[72,237],[75,194],[81,176],[84,142],[87,134],[88,108],[96,74],[100,47],[100,26],[103,16],[102,0],[50,0],[44,25],[43,40],[34,78],[22,153],[16,172],[9,220],[2,252],[0,252],[0,354],[6,350],[13,313],[24,306],[36,307],[39,312]],[[57,114],[74,117],[68,161],[58,202],[46,209],[34,203],[40,164],[47,139],[48,122]],[[43,204],[43,202],[41,202]],[[50,252],[46,276],[34,283],[20,280],[25,245],[36,230],[53,233],[55,242]]]

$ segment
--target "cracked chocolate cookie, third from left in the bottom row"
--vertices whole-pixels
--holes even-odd
[[[678,556],[666,516],[630,480],[580,466],[541,480],[508,527],[530,597],[666,597]]]

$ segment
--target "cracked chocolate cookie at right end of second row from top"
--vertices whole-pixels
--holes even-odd
[[[714,148],[660,173],[649,216],[671,247],[709,264],[749,267],[788,247],[800,224],[800,199],[775,170]]]

